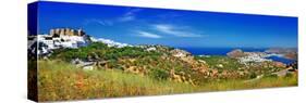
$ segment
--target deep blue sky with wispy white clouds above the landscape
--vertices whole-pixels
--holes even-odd
[[[40,2],[39,34],[83,28],[96,38],[171,47],[297,47],[297,18]]]

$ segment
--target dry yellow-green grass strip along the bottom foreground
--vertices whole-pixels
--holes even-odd
[[[124,73],[120,69],[83,70],[61,61],[39,61],[38,66],[39,101],[297,86],[297,75],[266,77],[252,82],[216,80],[203,86],[192,86],[170,80],[157,80],[148,76]]]

